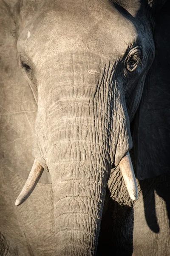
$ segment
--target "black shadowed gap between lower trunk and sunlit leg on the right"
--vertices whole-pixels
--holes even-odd
[[[122,206],[109,198],[107,188],[97,256],[131,256],[133,253],[133,207]]]

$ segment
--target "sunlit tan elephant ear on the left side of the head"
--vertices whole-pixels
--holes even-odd
[[[17,66],[16,43],[10,7],[0,1],[0,168],[27,179],[37,104]],[[40,182],[51,183],[50,174],[43,172]]]

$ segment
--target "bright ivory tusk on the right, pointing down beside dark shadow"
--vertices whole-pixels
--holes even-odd
[[[127,154],[125,154],[125,157],[122,158],[119,166],[122,171],[122,176],[125,180],[125,184],[130,198],[132,200],[136,200],[138,198],[138,189],[129,152],[127,152]]]

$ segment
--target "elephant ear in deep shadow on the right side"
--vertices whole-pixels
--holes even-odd
[[[136,113],[133,139],[139,180],[170,170],[170,2],[156,19],[156,56]]]

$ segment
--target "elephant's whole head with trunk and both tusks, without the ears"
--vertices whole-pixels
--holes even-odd
[[[56,255],[95,255],[113,167],[137,198],[130,122],[155,55],[158,6],[118,2],[21,1],[14,9],[18,64],[38,106],[35,161],[16,205],[47,167]]]

